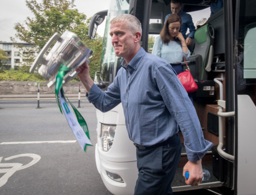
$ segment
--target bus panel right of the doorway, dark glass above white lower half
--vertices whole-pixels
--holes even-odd
[[[236,164],[238,195],[255,194],[256,2],[237,1],[235,33]]]

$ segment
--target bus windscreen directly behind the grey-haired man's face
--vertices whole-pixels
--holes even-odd
[[[128,13],[129,0],[111,0],[102,45],[102,56],[100,63],[100,79],[104,82],[113,82],[117,71],[121,67],[122,58],[115,56],[111,37],[109,35],[109,22],[117,15]]]

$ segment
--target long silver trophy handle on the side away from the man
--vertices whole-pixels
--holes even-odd
[[[48,40],[48,42],[45,44],[45,46],[43,47],[43,49],[39,52],[39,54],[37,55],[37,57],[35,58],[32,66],[30,67],[30,73],[33,73],[36,66],[38,64],[47,64],[46,59],[43,57],[43,55],[45,54],[45,52],[49,49],[49,47],[52,45],[52,43],[54,41],[59,41],[61,42],[61,36],[59,35],[59,33],[54,33],[54,35],[52,35],[52,37]]]

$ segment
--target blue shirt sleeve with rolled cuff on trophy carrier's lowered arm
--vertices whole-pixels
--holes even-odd
[[[169,64],[156,70],[155,79],[167,109],[180,126],[188,160],[200,160],[213,143],[204,139],[197,112],[186,90]]]

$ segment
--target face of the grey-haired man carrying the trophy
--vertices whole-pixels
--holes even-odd
[[[126,27],[126,22],[111,24],[109,35],[112,37],[116,56],[123,57],[126,61],[134,57],[136,36]]]

